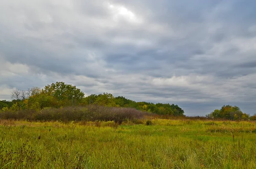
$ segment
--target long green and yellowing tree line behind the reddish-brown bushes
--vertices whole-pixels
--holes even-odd
[[[122,96],[114,97],[110,93],[99,95],[89,95],[84,97],[84,93],[70,84],[56,82],[40,89],[38,87],[29,88],[26,91],[14,89],[11,94],[12,101],[0,100],[1,111],[18,111],[32,109],[40,111],[44,108],[61,108],[67,106],[87,106],[99,105],[106,107],[125,107],[159,115],[182,116],[183,109],[178,105],[169,103],[149,103],[136,102]]]

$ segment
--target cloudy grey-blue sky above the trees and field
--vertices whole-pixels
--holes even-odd
[[[63,81],[85,95],[256,113],[255,0],[2,0],[0,100]]]

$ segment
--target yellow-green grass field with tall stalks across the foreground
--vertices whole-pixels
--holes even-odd
[[[0,169],[255,169],[256,123],[0,120]]]

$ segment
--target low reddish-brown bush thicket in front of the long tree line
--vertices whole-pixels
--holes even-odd
[[[137,120],[148,114],[133,108],[106,107],[97,105],[70,106],[64,108],[44,108],[40,111],[24,109],[0,112],[0,119],[14,120],[58,120],[58,121],[114,121]]]

